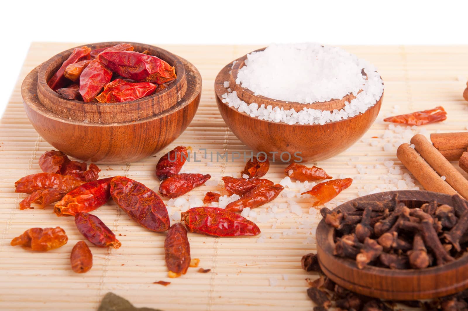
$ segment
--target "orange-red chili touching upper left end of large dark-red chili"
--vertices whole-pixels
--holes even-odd
[[[91,181],[67,193],[55,204],[57,216],[76,215],[78,212],[90,212],[105,204],[110,198],[110,178]]]

